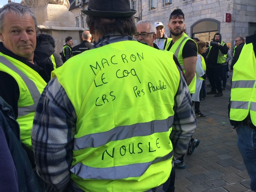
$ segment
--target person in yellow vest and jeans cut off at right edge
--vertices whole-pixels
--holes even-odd
[[[246,44],[234,65],[230,98],[230,123],[238,135],[238,148],[256,191],[256,34]]]

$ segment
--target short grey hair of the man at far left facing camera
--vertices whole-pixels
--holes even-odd
[[[12,12],[17,16],[19,16],[20,18],[22,18],[26,14],[29,14],[34,20],[35,28],[37,32],[38,26],[37,26],[36,16],[34,15],[34,13],[26,6],[20,3],[14,3],[14,2],[10,2],[4,5],[2,8],[0,8],[0,32],[3,32],[4,30],[4,16],[7,12]]]

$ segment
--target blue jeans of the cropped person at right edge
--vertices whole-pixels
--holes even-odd
[[[238,149],[251,178],[251,190],[256,191],[256,130],[240,125],[236,128]]]

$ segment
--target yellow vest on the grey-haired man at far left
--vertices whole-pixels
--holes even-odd
[[[10,74],[18,83],[18,118],[20,139],[32,150],[31,129],[39,98],[46,86],[44,79],[26,64],[0,53],[0,70]]]

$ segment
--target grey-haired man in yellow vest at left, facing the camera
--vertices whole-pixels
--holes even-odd
[[[0,96],[12,106],[20,124],[21,142],[30,149],[27,153],[34,163],[30,131],[53,65],[34,52],[37,22],[29,8],[6,4],[0,10],[0,20]]]

